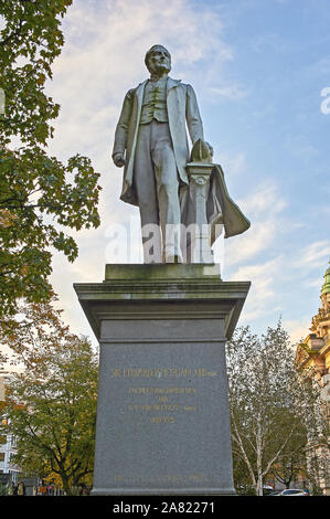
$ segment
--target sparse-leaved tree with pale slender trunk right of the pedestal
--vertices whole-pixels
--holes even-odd
[[[285,459],[301,465],[301,449],[316,431],[318,394],[295,369],[295,349],[278,322],[260,337],[249,327],[227,343],[234,466],[245,465],[245,485],[263,495],[263,484]]]

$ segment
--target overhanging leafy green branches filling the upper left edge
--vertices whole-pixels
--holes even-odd
[[[61,18],[72,0],[0,4],[0,319],[10,328],[17,300],[49,300],[51,247],[77,256],[66,229],[97,227],[98,177],[79,153],[62,163],[47,153],[58,104],[46,95],[64,44]],[[3,110],[2,110],[3,112]]]

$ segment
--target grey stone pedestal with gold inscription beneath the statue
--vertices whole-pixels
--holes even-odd
[[[235,494],[225,342],[249,283],[217,265],[107,265],[74,287],[100,343],[93,494]]]

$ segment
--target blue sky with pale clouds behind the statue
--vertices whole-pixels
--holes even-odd
[[[95,338],[73,283],[100,283],[106,263],[141,263],[138,209],[119,200],[111,162],[126,92],[164,45],[171,77],[193,86],[205,139],[251,229],[220,239],[223,280],[251,280],[239,325],[279,318],[292,342],[309,332],[330,260],[329,0],[74,0],[46,93],[61,105],[51,155],[79,152],[100,173],[97,230],[71,232],[79,256],[54,253],[51,282],[72,331]],[[131,230],[128,258],[118,236]]]

